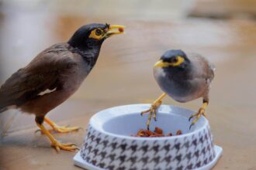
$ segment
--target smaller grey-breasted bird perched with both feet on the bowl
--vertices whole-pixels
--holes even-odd
[[[148,110],[147,129],[153,114],[157,121],[157,109],[167,95],[172,99],[185,103],[202,97],[202,107],[189,117],[192,123],[189,129],[202,115],[206,117],[206,107],[209,104],[209,89],[214,78],[215,66],[198,53],[186,54],[182,49],[170,49],[154,64],[154,79],[164,92],[154,100]]]

